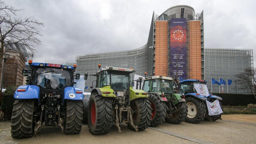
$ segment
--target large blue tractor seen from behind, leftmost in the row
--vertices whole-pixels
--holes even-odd
[[[83,122],[83,91],[74,87],[76,65],[36,63],[29,60],[22,71],[27,85],[14,93],[12,138],[36,136],[38,129],[59,126],[65,134],[80,133]]]

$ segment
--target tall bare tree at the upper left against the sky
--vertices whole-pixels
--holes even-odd
[[[24,18],[19,16],[17,12],[21,10],[0,1],[0,68],[2,68],[3,54],[12,50],[12,44],[21,44],[33,53],[34,46],[41,44],[39,37],[42,34],[36,26],[44,27],[44,23],[34,16]]]

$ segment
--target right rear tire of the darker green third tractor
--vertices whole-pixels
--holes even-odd
[[[175,105],[180,111],[172,114],[172,118],[165,118],[166,123],[170,124],[180,124],[185,120],[188,115],[188,106],[186,102],[179,102]]]

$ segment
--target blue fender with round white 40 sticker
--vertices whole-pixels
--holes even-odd
[[[82,91],[80,88],[68,86],[64,88],[64,100],[83,100],[83,91],[82,93],[76,93],[76,91]]]

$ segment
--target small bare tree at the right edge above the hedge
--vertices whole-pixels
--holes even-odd
[[[238,78],[236,83],[249,88],[256,100],[256,67],[246,68],[244,72],[236,75],[236,77]]]

